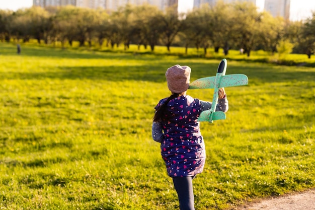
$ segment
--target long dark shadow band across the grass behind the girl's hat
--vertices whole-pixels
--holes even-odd
[[[126,56],[128,59],[128,56]],[[125,59],[125,57],[122,57]],[[130,57],[129,57],[130,59]],[[178,60],[177,60],[178,61]],[[177,63],[177,62],[176,62]],[[60,80],[105,80],[105,81],[148,81],[148,82],[165,82],[166,69],[176,64],[168,62],[159,62],[143,65],[128,65],[128,66],[61,66],[55,68],[54,71],[46,72],[7,72],[2,73],[2,78],[6,79],[60,79]],[[187,63],[187,65],[190,65]],[[191,82],[203,77],[211,77],[216,74],[216,64],[192,63],[191,65]],[[210,70],[211,69],[211,70]],[[229,74],[245,74],[249,78],[249,85],[251,81],[255,83],[277,83],[277,82],[313,82],[315,76],[314,71],[304,71],[298,69],[297,71],[286,71],[285,69],[275,69],[265,66],[233,66],[227,68],[226,75]]]

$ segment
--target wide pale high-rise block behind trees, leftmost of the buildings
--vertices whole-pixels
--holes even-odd
[[[40,7],[73,5],[75,7],[103,8],[114,11],[126,4],[136,6],[149,4],[165,11],[170,6],[178,5],[178,0],[33,0],[33,5]]]

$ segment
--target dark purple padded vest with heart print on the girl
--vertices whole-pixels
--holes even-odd
[[[162,99],[155,109],[166,100]],[[197,121],[202,111],[199,99],[188,95],[177,97],[168,103],[167,110],[172,117],[162,121],[164,136],[161,155],[169,176],[194,176],[201,173],[206,152]]]

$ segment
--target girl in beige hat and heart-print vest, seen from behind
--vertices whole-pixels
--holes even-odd
[[[198,117],[212,104],[186,95],[190,72],[189,66],[168,68],[165,76],[172,95],[155,106],[152,124],[152,138],[161,143],[161,155],[168,175],[173,178],[181,210],[195,209],[192,180],[203,171],[206,159]],[[224,88],[218,94],[216,110],[226,112],[228,101]]]

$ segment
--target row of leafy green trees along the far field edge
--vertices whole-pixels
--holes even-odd
[[[104,41],[114,47],[123,43],[203,48],[217,52],[223,48],[277,52],[293,46],[293,52],[305,53],[310,58],[315,51],[315,13],[305,21],[285,21],[267,12],[259,12],[253,4],[219,2],[214,7],[204,5],[188,14],[178,14],[174,8],[162,12],[154,6],[126,5],[118,11],[67,7],[32,7],[17,12],[0,10],[0,39],[35,38],[48,44],[59,41],[102,45]],[[292,47],[291,47],[292,48]]]

